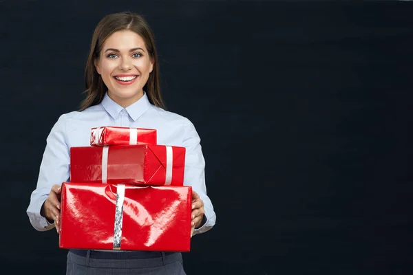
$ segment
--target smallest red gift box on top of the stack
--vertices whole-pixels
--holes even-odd
[[[157,144],[156,130],[104,126],[92,128],[90,132],[90,145],[92,146],[128,144]]]

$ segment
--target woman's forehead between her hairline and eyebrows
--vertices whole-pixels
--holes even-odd
[[[106,48],[115,48],[117,50],[129,50],[134,47],[142,47],[146,50],[145,41],[142,36],[131,30],[121,30],[111,34],[103,43],[103,50]]]

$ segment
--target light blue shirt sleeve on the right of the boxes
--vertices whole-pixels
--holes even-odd
[[[207,232],[215,225],[216,215],[211,199],[207,195],[205,185],[205,160],[200,145],[200,137],[192,122],[185,120],[183,145],[186,148],[184,185],[192,186],[192,189],[200,195],[204,201],[205,223],[193,231],[193,235]]]

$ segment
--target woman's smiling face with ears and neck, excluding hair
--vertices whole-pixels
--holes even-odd
[[[109,97],[124,108],[143,96],[153,69],[145,42],[130,30],[115,32],[106,39],[95,66]]]

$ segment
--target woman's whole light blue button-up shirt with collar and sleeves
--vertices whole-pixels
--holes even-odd
[[[206,223],[195,229],[193,234],[206,232],[215,225],[215,212],[205,186],[205,162],[200,137],[193,124],[181,115],[154,106],[146,93],[127,108],[105,94],[100,104],[61,115],[47,136],[39,179],[27,209],[30,223],[36,230],[54,228],[54,223],[41,216],[41,207],[54,184],[70,181],[70,147],[90,146],[90,131],[99,126],[156,129],[158,144],[185,147],[184,185],[192,186],[200,195],[207,218]]]

